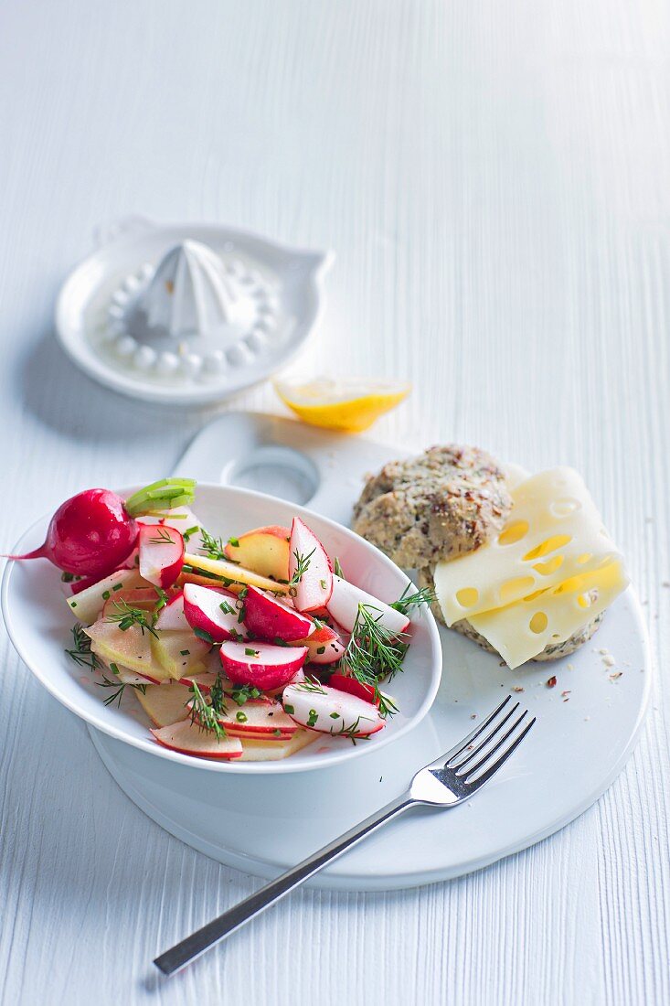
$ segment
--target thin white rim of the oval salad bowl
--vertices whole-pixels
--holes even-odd
[[[138,488],[137,485],[124,487],[120,490],[115,490],[119,492],[121,496],[127,496],[135,492]],[[242,498],[255,498],[261,499],[263,501],[272,501],[275,503],[281,503],[283,506],[291,506],[295,509],[296,514],[303,517],[307,523],[309,523],[310,517],[316,517],[318,520],[327,524],[328,526],[338,530],[344,531],[345,534],[350,536],[357,547],[361,547],[363,551],[370,552],[374,555],[374,559],[377,562],[381,562],[392,571],[394,576],[398,574],[403,578],[404,583],[410,583],[411,580],[403,572],[399,566],[384,555],[376,546],[370,544],[360,535],[352,531],[351,528],[346,527],[344,524],[340,524],[336,520],[332,520],[330,517],[325,517],[318,513],[316,510],[310,510],[307,507],[300,506],[297,503],[291,503],[290,501],[281,499],[280,497],[273,496],[270,493],[258,492],[254,489],[243,489],[237,486],[224,486],[214,482],[198,482],[196,486],[196,494],[199,488],[211,489],[216,492],[223,493],[224,495],[233,495]],[[21,549],[23,547],[23,541],[30,538],[37,528],[41,526],[46,526],[50,520],[51,514],[45,514],[42,517],[34,521],[19,537],[18,541],[11,549],[12,554],[21,554]],[[442,666],[443,666],[443,653],[442,644],[440,640],[440,633],[433,613],[426,609],[422,612],[422,621],[426,626],[429,634],[429,644],[432,651],[432,675],[430,680],[430,686],[427,690],[424,700],[422,701],[418,709],[413,716],[408,718],[404,723],[402,723],[398,729],[389,731],[386,733],[385,730],[381,731],[381,736],[379,736],[373,743],[359,743],[350,744],[344,747],[341,751],[329,752],[327,757],[312,754],[305,756],[304,760],[297,765],[291,765],[291,756],[286,759],[281,759],[276,762],[239,762],[236,759],[232,759],[229,762],[225,761],[214,761],[213,759],[199,759],[192,754],[182,754],[179,751],[173,751],[168,747],[163,747],[156,741],[150,738],[150,734],[147,731],[147,737],[132,737],[127,734],[121,726],[116,726],[114,723],[110,723],[105,719],[104,715],[97,716],[83,712],[79,706],[73,701],[70,701],[66,696],[62,695],[60,690],[51,682],[48,674],[44,674],[40,667],[33,661],[29,654],[25,651],[18,639],[18,632],[12,624],[12,619],[10,615],[10,582],[12,577],[12,571],[15,567],[14,562],[8,561],[2,576],[2,588],[0,591],[0,607],[2,609],[2,615],[5,622],[5,627],[7,629],[7,634],[12,642],[12,645],[23,663],[29,668],[31,673],[37,678],[37,680],[42,684],[46,690],[53,695],[53,697],[65,708],[69,709],[70,712],[74,713],[83,722],[94,726],[96,729],[101,730],[103,733],[107,733],[109,736],[114,737],[117,740],[121,740],[123,743],[127,743],[132,747],[137,748],[145,752],[146,754],[155,756],[158,758],[166,759],[167,761],[174,762],[177,765],[187,766],[190,769],[201,769],[206,772],[218,772],[223,774],[234,773],[237,775],[268,775],[273,773],[291,773],[291,772],[313,772],[318,769],[329,769],[332,766],[340,765],[343,762],[347,762],[350,759],[358,758],[363,756],[366,751],[378,751],[381,747],[386,744],[392,743],[398,740],[404,734],[410,732],[414,729],[422,720],[429,713],[433,703],[435,702],[436,696],[438,694],[438,689],[440,688],[440,682],[442,679]],[[101,709],[104,709],[104,705],[101,703]]]

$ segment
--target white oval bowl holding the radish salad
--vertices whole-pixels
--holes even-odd
[[[122,495],[138,487],[121,490]],[[381,601],[392,602],[408,582],[404,573],[357,534],[310,510],[227,486],[199,484],[193,509],[205,527],[224,539],[265,524],[290,525],[300,515],[332,556],[337,555],[354,583]],[[44,539],[48,517],[37,521],[14,548],[21,554]],[[213,762],[180,754],[159,746],[149,733],[149,720],[134,695],[124,696],[121,708],[105,706],[105,691],[97,687],[88,668],[78,667],[64,653],[70,645],[72,618],[60,590],[59,572],[43,559],[9,562],[2,581],[2,612],[7,631],[23,661],[41,683],[72,712],[112,737],[181,765],[207,772],[267,774],[302,772],[358,758],[378,750],[412,729],[433,705],[442,670],[440,637],[433,616],[423,611],[411,624],[411,640],[404,670],[388,687],[400,712],[369,740],[355,745],[345,738],[317,737],[296,754],[280,762]],[[130,692],[130,689],[128,689]]]

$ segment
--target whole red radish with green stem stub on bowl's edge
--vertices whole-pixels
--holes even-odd
[[[127,500],[109,489],[87,489],[61,503],[39,548],[6,558],[45,558],[65,572],[101,579],[133,551],[139,533],[135,518],[192,502],[194,486],[193,479],[162,479]]]

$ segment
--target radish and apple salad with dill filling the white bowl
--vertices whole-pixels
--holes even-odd
[[[105,703],[132,691],[158,744],[206,759],[275,761],[383,729],[398,710],[381,686],[430,592],[409,585],[390,605],[366,594],[297,516],[222,540],[191,510],[194,491],[189,479],[127,500],[88,490],[40,548],[10,556],[61,570],[76,620],[65,652]]]

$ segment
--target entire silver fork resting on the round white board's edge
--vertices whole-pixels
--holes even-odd
[[[164,975],[173,975],[314,876],[366,835],[410,807],[456,807],[464,800],[469,800],[502,768],[535,722],[535,717],[530,720],[526,718],[527,709],[516,715],[519,703],[508,708],[509,702],[508,695],[467,737],[421,769],[401,797],[375,811],[340,838],[325,845],[250,897],[161,954],[154,961],[156,967]]]

